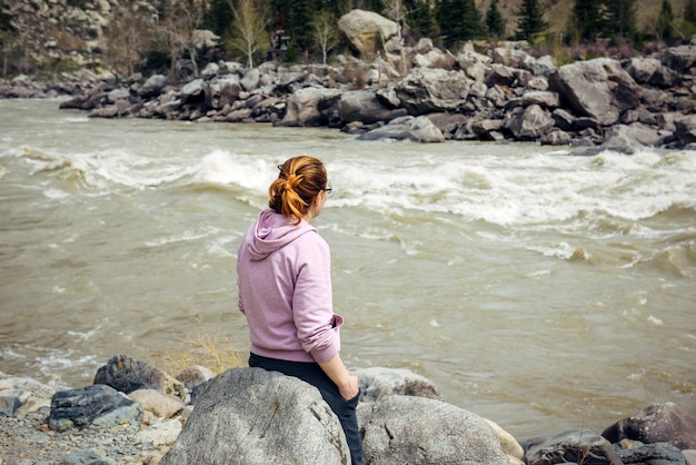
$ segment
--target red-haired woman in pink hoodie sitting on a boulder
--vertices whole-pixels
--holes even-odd
[[[238,250],[239,309],[251,339],[249,366],[316,386],[344,427],[352,464],[365,464],[356,406],[358,378],[340,355],[328,244],[311,226],[331,191],[316,158],[290,158],[268,189],[261,211]]]

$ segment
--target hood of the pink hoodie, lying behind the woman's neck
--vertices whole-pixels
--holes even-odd
[[[282,248],[301,235],[317,230],[305,220],[301,220],[297,226],[294,225],[294,221],[295,218],[277,214],[274,210],[261,211],[252,228],[253,238],[248,243],[251,260],[262,260],[269,254]]]

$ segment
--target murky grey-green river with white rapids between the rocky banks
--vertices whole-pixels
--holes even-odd
[[[517,438],[696,415],[696,152],[358,141],[0,100],[0,370],[91,384],[222,332],[276,166],[322,159],[350,368],[408,368]]]

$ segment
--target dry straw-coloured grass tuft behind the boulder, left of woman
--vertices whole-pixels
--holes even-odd
[[[172,376],[193,365],[203,366],[215,374],[246,366],[227,335],[209,335],[200,330],[196,338],[180,338],[173,349],[159,354],[157,358],[162,360],[166,372]]]

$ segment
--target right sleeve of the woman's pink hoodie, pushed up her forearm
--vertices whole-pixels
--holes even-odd
[[[339,327],[342,319],[334,315],[331,293],[331,256],[328,244],[318,233],[302,236],[292,317],[302,348],[317,362],[327,362],[340,350]]]

